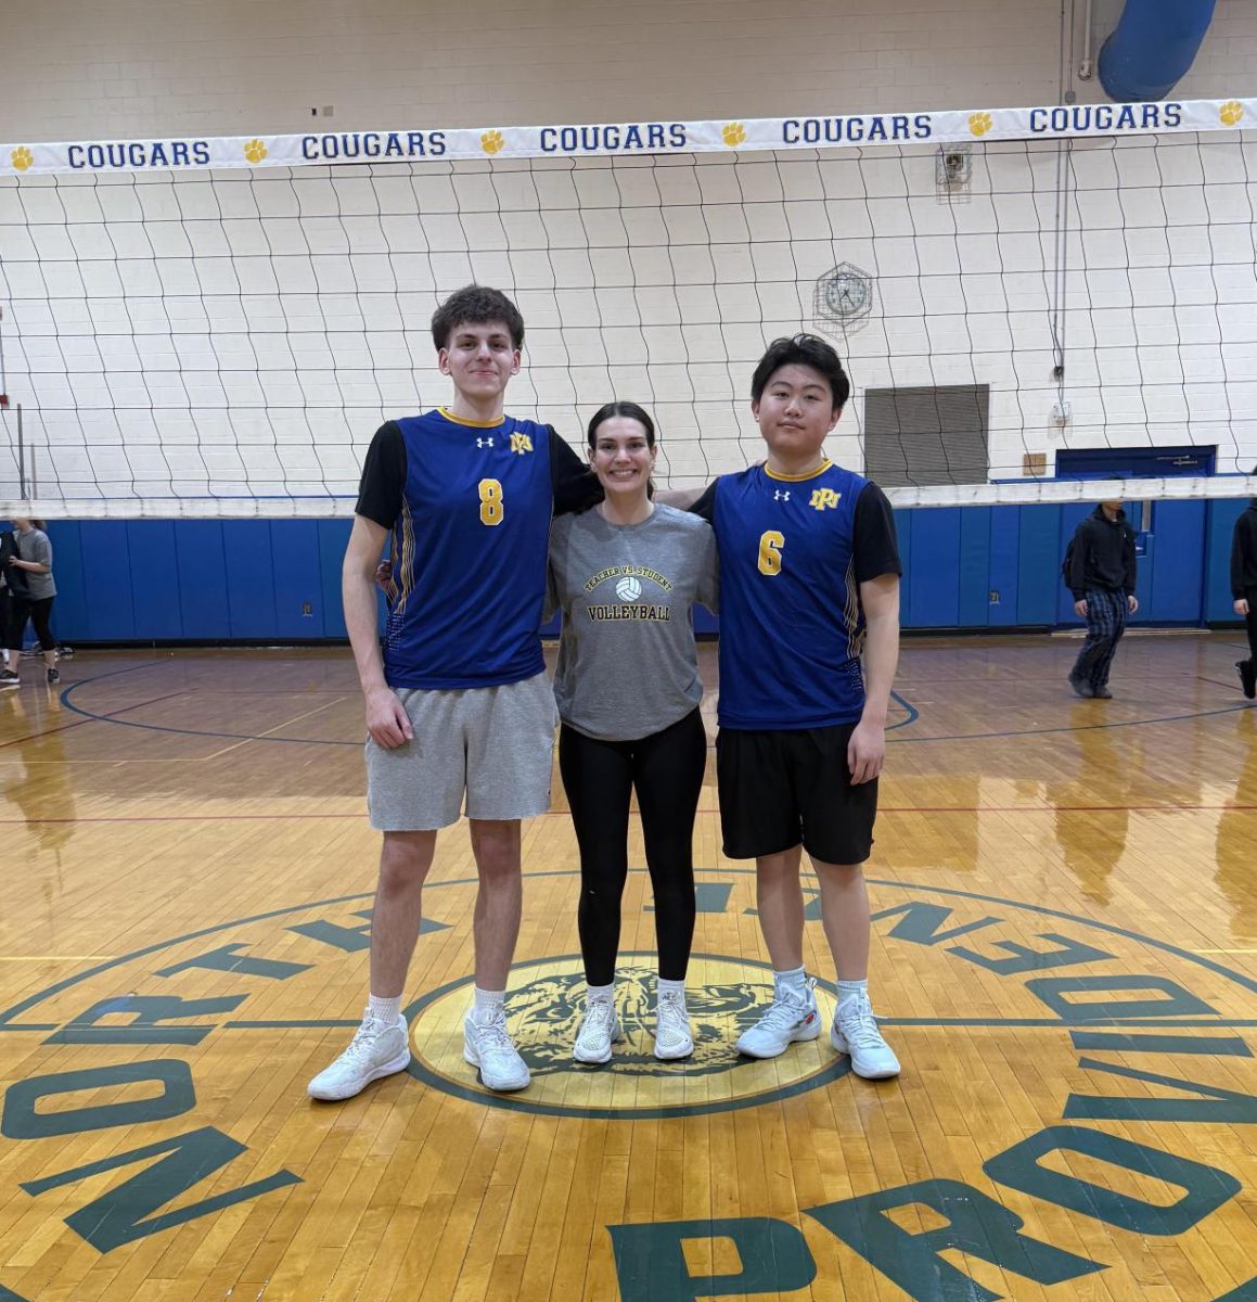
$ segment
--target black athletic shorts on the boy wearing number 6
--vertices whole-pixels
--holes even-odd
[[[716,737],[720,824],[730,859],[802,842],[824,863],[863,863],[873,846],[877,779],[851,785],[855,724],[798,732],[721,728]]]

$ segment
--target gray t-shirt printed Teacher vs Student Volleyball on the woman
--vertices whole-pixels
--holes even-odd
[[[563,612],[554,671],[560,717],[600,741],[635,741],[703,699],[690,608],[716,609],[716,534],[656,504],[638,525],[597,509],[550,527],[547,609]]]

